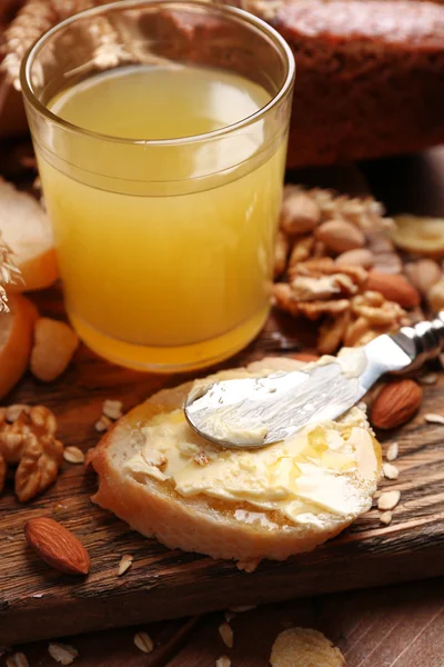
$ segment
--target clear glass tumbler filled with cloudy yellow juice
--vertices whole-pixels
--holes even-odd
[[[294,61],[242,10],[125,0],[31,49],[21,84],[68,315],[150,371],[196,369],[269,312]]]

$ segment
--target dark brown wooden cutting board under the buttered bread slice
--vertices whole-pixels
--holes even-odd
[[[316,182],[322,181],[316,177]],[[57,288],[34,300],[42,313],[63,317]],[[274,313],[260,338],[225,366],[290,355],[311,339],[309,328]],[[99,440],[94,422],[104,399],[120,399],[127,410],[184,379],[123,370],[82,347],[62,378],[41,385],[26,377],[8,404],[48,406],[58,417],[60,439],[85,451]],[[425,424],[423,415],[444,411],[444,379],[424,392],[421,414],[385,436],[400,445],[400,479],[381,485],[401,490],[392,524],[383,526],[372,509],[314,552],[285,563],[264,561],[252,574],[231,563],[170,551],[131,531],[90,502],[95,478],[83,466],[64,464],[57,484],[24,506],[14,500],[9,485],[0,498],[0,645],[443,575],[444,427]],[[28,549],[23,524],[42,515],[61,521],[87,546],[88,578],[61,575]],[[118,577],[125,554],[134,563]]]

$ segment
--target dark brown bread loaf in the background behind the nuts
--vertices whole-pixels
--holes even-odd
[[[296,0],[273,14],[296,60],[290,166],[444,142],[443,6]]]

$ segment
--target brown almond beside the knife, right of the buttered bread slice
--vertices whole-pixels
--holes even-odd
[[[414,380],[396,380],[377,395],[371,421],[376,428],[396,428],[406,424],[421,406],[423,390]]]

